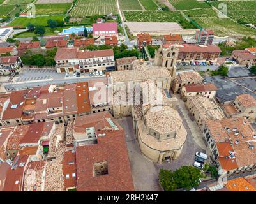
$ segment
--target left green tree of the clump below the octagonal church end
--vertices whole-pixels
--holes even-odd
[[[174,180],[174,173],[171,170],[160,170],[159,183],[165,191],[174,191],[177,184]]]

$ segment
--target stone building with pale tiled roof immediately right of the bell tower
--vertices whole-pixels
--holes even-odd
[[[172,92],[174,94],[180,93],[183,85],[188,84],[202,84],[204,78],[196,71],[180,72],[172,81]]]

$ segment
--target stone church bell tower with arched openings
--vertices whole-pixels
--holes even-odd
[[[162,66],[169,70],[172,77],[176,76],[176,61],[179,55],[179,48],[176,45],[160,45],[155,51],[154,65]]]

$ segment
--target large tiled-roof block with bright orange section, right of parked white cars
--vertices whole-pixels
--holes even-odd
[[[203,131],[215,166],[227,177],[256,170],[255,135],[244,117],[208,120]]]

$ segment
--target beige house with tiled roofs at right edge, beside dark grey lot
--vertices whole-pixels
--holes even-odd
[[[256,99],[250,94],[241,94],[231,103],[222,106],[227,117],[245,117],[256,119]]]

